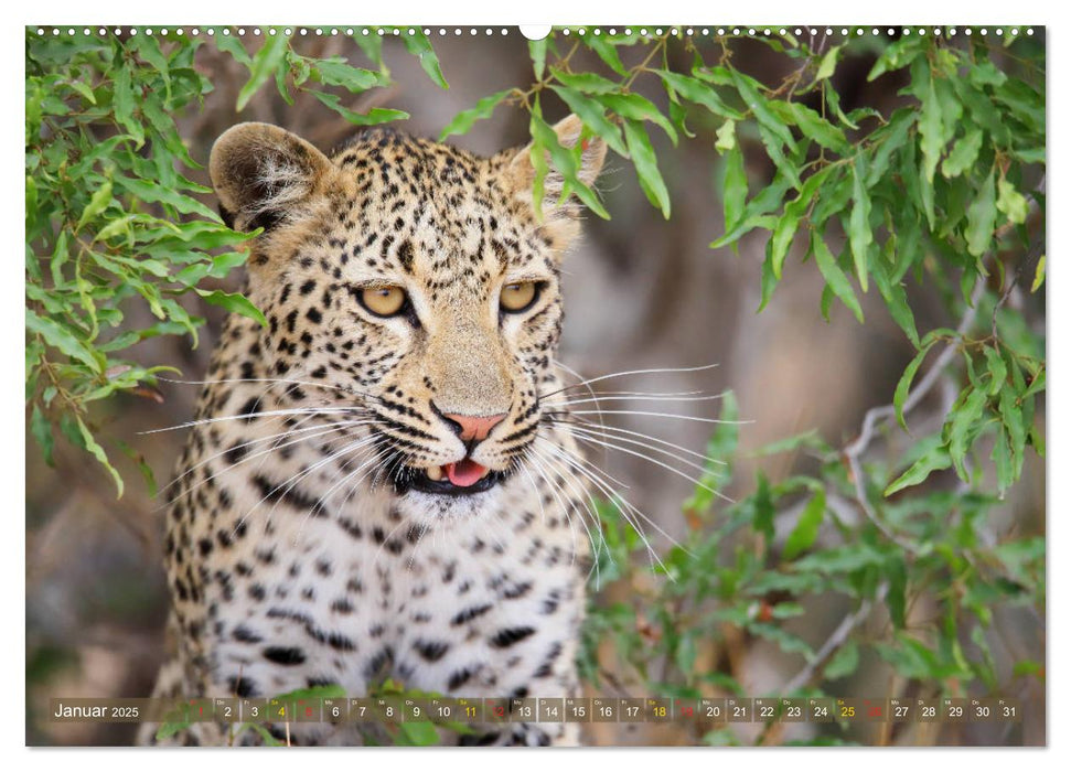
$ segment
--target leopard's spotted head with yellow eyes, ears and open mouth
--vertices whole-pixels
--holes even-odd
[[[579,140],[576,119],[556,128]],[[603,156],[585,144],[581,179]],[[528,149],[484,159],[373,132],[329,159],[258,124],[224,135],[211,169],[235,226],[265,227],[250,296],[289,397],[361,408],[358,462],[407,514],[491,511],[560,386],[560,260],[578,228],[560,182],[539,219]]]

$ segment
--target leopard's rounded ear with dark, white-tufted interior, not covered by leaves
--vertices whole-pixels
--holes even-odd
[[[238,124],[212,146],[208,174],[224,222],[236,230],[270,230],[300,213],[325,184],[333,164],[278,126]]]

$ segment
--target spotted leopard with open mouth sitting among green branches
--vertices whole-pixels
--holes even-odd
[[[214,142],[212,186],[248,236],[243,293],[261,318],[226,319],[184,425],[153,697],[364,697],[388,679],[581,694],[591,496],[556,357],[587,211],[575,182],[596,190],[607,147],[575,115],[551,128],[575,179],[531,144],[485,157],[386,128],[330,153],[260,122]],[[576,723],[514,718],[441,738],[580,741]],[[234,742],[224,721],[160,727],[138,742]],[[344,722],[267,730],[367,739]]]

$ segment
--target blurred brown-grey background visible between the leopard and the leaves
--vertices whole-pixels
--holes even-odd
[[[354,64],[367,65],[361,50],[343,36],[294,36],[294,47],[317,56],[343,55]],[[445,37],[432,35],[442,73],[450,84],[438,88],[421,71],[416,57],[397,41],[384,43],[384,58],[395,81],[393,87],[352,98],[349,106],[365,111],[371,107],[392,107],[408,111],[399,130],[437,137],[460,110],[480,97],[532,81],[532,64],[526,41],[515,29],[503,36]],[[784,76],[784,57],[769,55],[764,45],[737,41],[733,65],[765,83]],[[622,51],[626,60],[638,52]],[[591,57],[585,62],[583,56]],[[896,78],[871,84],[866,74],[874,63],[864,52],[842,63],[836,87],[845,110],[868,105],[888,112],[898,100]],[[580,51],[574,67],[597,60]],[[686,63],[683,63],[686,64]],[[242,120],[277,124],[329,150],[345,139],[353,127],[312,97],[298,95],[288,106],[274,88],[266,88],[240,114],[234,105],[247,78],[244,67],[212,44],[201,47],[197,67],[216,86],[203,109],[181,117],[180,132],[188,140],[194,159],[206,162],[214,139]],[[643,93],[643,89],[640,89]],[[549,95],[548,95],[549,96]],[[660,90],[645,94],[664,103]],[[544,103],[544,115],[554,122],[566,115],[560,104]],[[560,360],[585,377],[645,368],[696,367],[717,364],[713,369],[690,373],[633,375],[599,384],[604,389],[640,392],[690,392],[713,394],[732,389],[740,404],[738,481],[753,479],[762,464],[772,481],[791,474],[799,463],[793,454],[749,458],[748,452],[770,441],[816,428],[832,444],[842,446],[855,437],[865,411],[889,401],[897,379],[913,355],[913,350],[892,322],[880,298],[871,291],[861,296],[866,325],[860,325],[838,303],[829,322],[820,313],[822,278],[813,265],[789,258],[785,278],[773,302],[762,313],[759,305],[760,266],[765,232],[746,237],[738,250],[711,250],[709,243],[724,233],[721,199],[722,170],[714,149],[713,132],[694,126],[697,138],[683,139],[673,148],[665,136],[652,131],[662,174],[672,197],[673,214],[662,218],[640,190],[625,160],[608,159],[599,187],[612,219],[591,215],[582,240],[566,264],[566,326]],[[470,133],[449,141],[481,154],[520,146],[527,141],[527,114],[500,106],[492,119],[480,121]],[[772,168],[754,140],[743,138],[748,154],[751,190],[770,181]],[[190,176],[207,184],[204,170]],[[211,196],[206,203],[215,206]],[[224,288],[236,290],[236,275]],[[920,331],[938,325],[954,326],[936,297],[915,292],[911,298]],[[182,376],[203,376],[222,315],[218,309],[197,309],[210,319],[201,345],[193,350],[186,337],[157,337],[131,350],[147,364],[172,364]],[[147,309],[137,323],[147,323]],[[952,322],[950,324],[950,322]],[[110,433],[141,450],[156,471],[160,484],[170,480],[171,470],[185,440],[182,431],[153,435],[139,432],[189,420],[197,396],[196,386],[162,383],[162,401],[120,396],[109,403]],[[930,406],[930,422],[940,426],[940,400]],[[617,406],[615,406],[617,407]],[[650,404],[624,404],[620,409],[651,409]],[[716,417],[718,401],[681,403],[673,411],[699,417]],[[920,411],[924,423],[928,415]],[[664,438],[701,451],[710,427],[700,422],[653,417],[610,417],[623,428]],[[29,433],[28,433],[29,438]],[[666,470],[623,454],[599,458],[600,465],[629,484],[628,498],[645,512],[671,536],[686,529],[681,502],[693,486]],[[120,459],[120,462],[125,460]],[[42,719],[47,699],[65,697],[108,697],[148,695],[163,651],[162,626],[168,598],[161,567],[163,512],[160,502],[149,498],[131,464],[121,468],[128,480],[127,493],[119,501],[111,482],[87,457],[57,446],[57,467],[47,468],[40,450],[28,440],[26,447],[26,677],[28,728],[31,744],[125,744],[131,741],[128,725],[47,723]],[[730,489],[729,494],[732,495]],[[998,530],[1019,534],[1045,533],[1045,468],[1028,454],[1022,483],[1009,492],[999,516],[992,518]],[[996,534],[999,536],[999,533]],[[666,540],[649,530],[656,548]],[[613,587],[603,592],[612,598]],[[839,603],[808,608],[807,613],[786,623],[793,632],[817,644],[843,618]],[[1008,662],[1045,660],[1043,630],[1021,624],[1010,611],[1000,612],[994,624],[1005,634]],[[889,672],[880,663],[865,663],[853,679],[843,684],[845,695],[877,696],[886,693]],[[799,660],[788,657],[768,642],[743,645],[733,663],[736,676],[748,687],[747,694],[775,690],[799,668]],[[1031,682],[1038,684],[1039,682]],[[640,695],[638,695],[640,696]],[[1043,698],[1035,693],[1016,695],[1022,699]],[[746,735],[747,728],[740,729]],[[795,731],[795,730],[793,730]],[[807,727],[785,739],[806,739]],[[863,726],[858,741],[877,741],[879,730]],[[925,732],[929,732],[927,735]],[[1000,737],[992,727],[939,726],[919,729],[902,739],[907,743],[1027,743],[1045,741],[1043,717],[1016,727]],[[939,736],[940,733],[940,736]],[[591,730],[589,742],[675,744],[687,742],[673,727],[606,725]]]

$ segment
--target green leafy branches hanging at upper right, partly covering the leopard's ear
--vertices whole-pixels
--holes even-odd
[[[725,234],[716,248],[738,244],[756,230],[769,232],[763,265],[762,303],[781,281],[793,247],[802,261],[814,256],[825,281],[822,311],[833,299],[864,321],[858,293],[877,287],[892,320],[924,352],[940,340],[962,351],[968,369],[985,366],[966,384],[950,412],[941,443],[929,457],[890,481],[887,493],[923,482],[933,471],[953,468],[966,480],[968,451],[985,439],[995,442],[997,481],[1006,490],[1021,473],[1024,450],[1032,444],[1033,406],[1043,383],[1043,357],[1018,346],[1003,320],[1006,291],[1026,262],[1037,259],[1038,237],[1022,227],[1036,202],[1043,224],[1045,199],[1035,192],[1045,174],[1043,46],[1006,31],[1000,39],[903,35],[899,40],[855,40],[823,50],[790,34],[763,37],[791,67],[768,86],[732,65],[731,36],[703,45],[695,37],[587,34],[576,30],[529,43],[535,83],[501,92],[458,116],[443,136],[463,133],[495,106],[510,101],[532,112],[532,157],[536,190],[554,165],[572,191],[601,216],[609,216],[577,179],[576,153],[558,147],[543,120],[540,95],[556,94],[593,136],[631,159],[641,189],[665,217],[670,191],[658,168],[649,124],[676,142],[677,131],[695,136],[685,120],[707,127],[725,159]],[[1007,51],[1010,46],[1011,52]],[[576,68],[578,51],[593,51],[606,73]],[[619,50],[638,49],[633,66]],[[870,107],[845,112],[835,88],[837,67],[856,56],[875,58],[869,79],[900,75],[904,100],[887,115]],[[674,68],[687,62],[685,68]],[[667,112],[635,93],[645,78],[665,93]],[[623,142],[622,142],[623,133]],[[773,180],[750,199],[745,172],[745,140],[772,162]],[[758,141],[754,141],[758,138]],[[549,161],[549,165],[548,165]],[[839,254],[832,245],[840,244]],[[1020,253],[1015,276],[1006,275],[1005,253]],[[852,278],[858,287],[853,286]],[[1035,272],[1037,289],[1043,265]],[[912,282],[913,280],[913,282]],[[943,300],[957,317],[974,307],[974,288],[997,287],[992,334],[976,339],[952,332],[920,337],[909,290],[958,287]],[[912,287],[912,283],[915,287]],[[918,288],[918,289],[915,289]],[[1004,297],[1000,297],[1005,293]],[[981,314],[979,314],[981,315]],[[1018,318],[1011,317],[1011,323]],[[999,363],[999,364],[998,364]],[[898,415],[921,360],[913,362],[898,389]],[[994,369],[995,367],[995,369]],[[900,416],[902,421],[902,416]],[[904,425],[906,427],[906,425]]]

